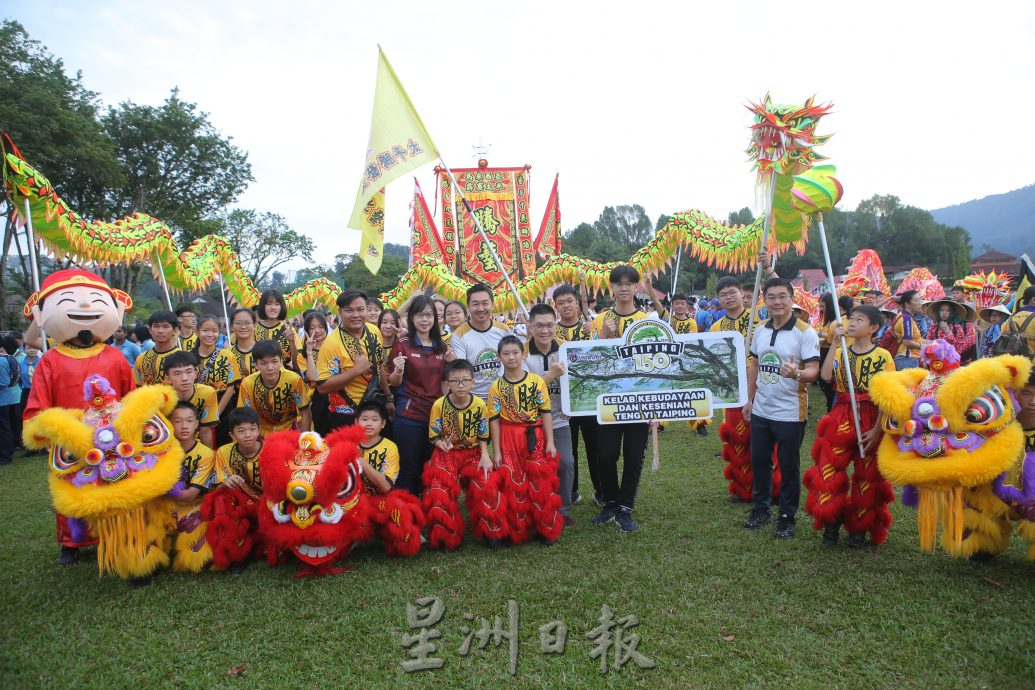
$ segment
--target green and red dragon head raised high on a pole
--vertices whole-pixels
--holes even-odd
[[[748,104],[755,121],[747,155],[759,174],[798,175],[825,159],[814,149],[826,144],[830,134],[820,137],[816,127],[832,107],[817,106],[815,97],[800,106],[774,106],[768,93],[762,102]]]

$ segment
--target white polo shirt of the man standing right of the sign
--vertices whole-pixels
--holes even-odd
[[[759,377],[751,402],[751,416],[774,422],[803,422],[808,415],[808,385],[779,374],[779,367],[791,360],[799,364],[820,360],[820,336],[807,323],[791,317],[777,330],[772,321],[755,329],[751,355],[759,364]]]

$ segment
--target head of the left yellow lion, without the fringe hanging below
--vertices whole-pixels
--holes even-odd
[[[86,410],[51,408],[25,424],[25,444],[50,449],[54,507],[93,518],[137,508],[180,478],[183,451],[165,415],[176,404],[169,386],[139,388],[116,399],[109,382],[84,383]]]

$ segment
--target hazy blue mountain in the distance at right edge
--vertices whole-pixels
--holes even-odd
[[[1035,184],[931,211],[935,220],[959,226],[971,236],[973,256],[983,245],[1013,256],[1035,257]]]

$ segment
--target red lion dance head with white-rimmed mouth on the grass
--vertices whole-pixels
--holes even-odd
[[[359,441],[348,427],[326,440],[314,431],[276,431],[263,444],[259,467],[265,509],[263,538],[276,550],[321,567],[347,556],[362,529]]]

